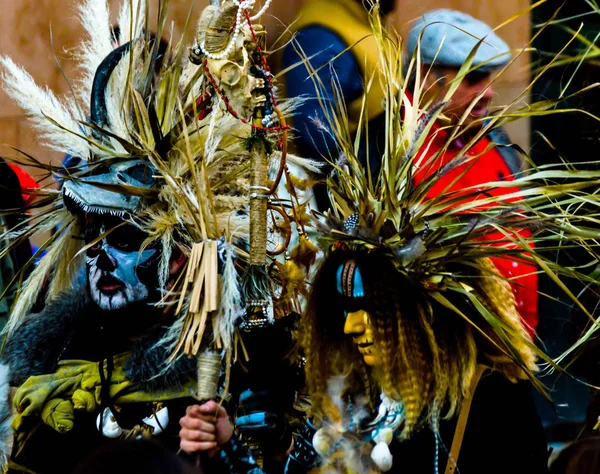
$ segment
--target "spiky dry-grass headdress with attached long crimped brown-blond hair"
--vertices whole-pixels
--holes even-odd
[[[475,53],[449,85],[446,97],[427,102],[418,54],[406,68],[416,77],[409,89],[400,39],[384,30],[373,3],[371,21],[385,91],[381,169],[377,173],[369,165],[374,160],[367,159],[365,164],[359,159],[359,143],[367,135],[369,117],[363,113],[357,136],[352,136],[338,91],[334,105],[323,109],[341,158],[332,158],[334,171],[327,180],[331,210],[317,216],[326,255],[313,284],[301,338],[314,400],[327,393],[332,376],[343,374],[353,377],[352,383],[376,402],[377,393],[369,393],[373,374],[365,372],[356,347],[341,333],[342,310],[331,297],[336,294],[340,265],[355,262],[366,299],[371,298],[375,348],[384,367],[372,373],[382,392],[402,403],[405,419],[398,434],[406,438],[420,423],[428,421],[433,426],[440,417],[456,413],[469,392],[477,364],[488,365],[513,381],[529,378],[542,389],[535,376],[536,359],[552,367],[556,364],[536,347],[519,317],[509,282],[490,258],[516,258],[536,265],[581,306],[561,277],[587,282],[591,277],[558,265],[550,254],[561,246],[581,246],[588,250],[591,263],[598,262],[591,247],[600,235],[595,224],[600,174],[541,166],[512,181],[447,189],[432,197],[429,192],[442,176],[479,158],[471,150],[484,134],[526,112],[509,112],[506,107],[479,121],[477,127],[445,127],[447,142],[431,159],[425,159],[422,150],[428,146],[427,137],[443,117],[444,103],[471,70]],[[319,90],[314,71],[313,77]],[[377,75],[366,78],[366,87],[371,80],[377,80]],[[415,170],[431,166],[457,136],[466,145],[456,158],[415,182]],[[506,188],[512,191],[494,192]],[[492,233],[498,237],[485,241]],[[550,252],[536,251],[535,244]],[[582,310],[594,320],[586,308]],[[337,319],[336,314],[340,315]],[[315,403],[314,412],[324,420],[329,417],[326,405]]]

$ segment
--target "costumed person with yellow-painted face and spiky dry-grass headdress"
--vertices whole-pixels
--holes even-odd
[[[379,50],[390,51],[398,38],[382,31],[375,31]],[[312,449],[305,472],[323,473],[547,473],[532,386],[543,390],[537,360],[549,358],[533,343],[490,257],[529,255],[556,278],[571,277],[572,268],[528,244],[550,239],[560,246],[565,239],[585,247],[597,232],[588,234],[587,214],[548,217],[554,214],[547,206],[561,214],[574,196],[547,186],[546,171],[515,181],[507,202],[494,199],[502,183],[429,196],[450,166],[413,183],[418,145],[442,112],[431,102],[425,110],[411,104],[408,90],[392,86],[401,77],[399,55],[386,56],[382,68],[391,123],[376,179],[359,159],[347,117],[332,120],[340,124],[335,136],[344,159],[327,181],[331,210],[316,224],[325,255],[299,330],[315,432],[312,446],[294,445],[288,459],[296,449]],[[597,199],[585,172],[570,176],[573,189],[591,190],[575,201]],[[514,228],[529,230],[528,242],[513,241]],[[498,231],[503,239],[489,245],[485,236]],[[226,420],[223,409],[216,422],[200,414],[184,424],[182,449],[210,455],[215,446],[203,440],[237,444]]]

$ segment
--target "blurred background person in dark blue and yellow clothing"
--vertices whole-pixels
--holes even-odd
[[[380,14],[387,16],[396,2],[378,3]],[[333,162],[338,158],[335,139],[328,130],[318,96],[323,106],[332,111],[343,99],[349,126],[356,132],[366,95],[370,124],[360,155],[363,163],[369,161],[375,176],[380,155],[377,136],[384,126],[384,114],[383,90],[377,76],[370,88],[365,87],[373,73],[379,71],[379,50],[369,24],[371,7],[368,0],[306,1],[298,19],[290,26],[294,39],[283,51],[281,66],[286,71],[283,76],[286,97],[306,99],[293,120],[298,134],[295,144],[301,156]],[[306,60],[310,66],[301,64]],[[313,71],[316,74],[311,77]],[[314,193],[319,209],[325,210],[329,206],[325,186],[317,185]]]

